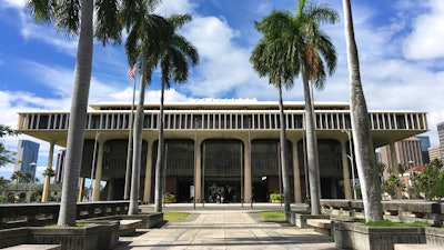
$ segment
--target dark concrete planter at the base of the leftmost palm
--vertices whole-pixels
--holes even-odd
[[[118,247],[119,223],[91,223],[82,228],[29,228],[28,243],[61,244],[62,250],[109,250]]]

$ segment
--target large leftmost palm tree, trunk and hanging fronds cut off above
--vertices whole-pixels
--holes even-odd
[[[117,18],[119,4],[119,0],[97,0],[97,17],[93,26],[94,1],[29,0],[27,3],[37,22],[54,22],[59,30],[69,36],[79,37],[59,226],[75,226],[77,189],[91,81],[93,27],[95,27],[95,38],[103,46],[109,41],[120,42],[121,26]]]

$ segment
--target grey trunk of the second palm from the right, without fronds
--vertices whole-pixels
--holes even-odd
[[[305,131],[306,131],[306,158],[309,163],[310,202],[312,214],[321,214],[320,204],[320,176],[317,160],[317,143],[314,128],[314,112],[310,93],[310,82],[304,69],[302,69],[302,81],[305,98]]]

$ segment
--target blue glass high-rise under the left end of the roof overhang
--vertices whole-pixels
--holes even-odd
[[[29,140],[19,140],[16,154],[14,171],[29,172],[36,180],[37,160],[40,144]]]

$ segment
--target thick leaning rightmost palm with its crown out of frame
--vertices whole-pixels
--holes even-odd
[[[360,59],[354,38],[353,16],[350,0],[343,0],[344,29],[350,72],[350,117],[353,143],[356,146],[356,168],[360,178],[366,221],[382,220],[381,183],[371,136],[371,124],[364,90],[361,82]]]

